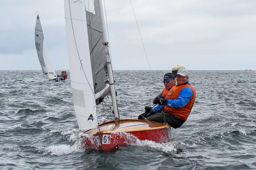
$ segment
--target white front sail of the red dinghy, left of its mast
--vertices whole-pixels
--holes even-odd
[[[84,0],[64,1],[69,70],[79,130],[97,127]]]

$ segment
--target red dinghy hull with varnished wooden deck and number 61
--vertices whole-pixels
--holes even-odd
[[[170,139],[170,128],[169,125],[145,120],[111,121],[84,132],[91,137],[85,137],[83,144],[93,150],[111,152],[119,146],[134,144],[138,139],[166,143]]]

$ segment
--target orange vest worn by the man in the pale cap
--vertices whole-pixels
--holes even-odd
[[[177,116],[184,121],[187,121],[188,115],[190,114],[191,109],[196,100],[196,91],[195,91],[194,87],[192,87],[191,85],[188,85],[188,84],[179,85],[178,87],[175,85],[170,89],[170,91],[168,92],[168,94],[166,96],[167,100],[177,100],[180,96],[181,90],[183,90],[186,87],[191,88],[193,91],[193,97],[188,102],[188,104],[186,106],[184,106],[182,108],[169,107],[169,106],[164,107],[165,112],[171,113],[172,115]]]

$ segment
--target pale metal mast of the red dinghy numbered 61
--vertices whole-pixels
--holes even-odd
[[[103,15],[103,6],[101,3],[101,0],[98,0],[98,2],[99,2],[99,7],[100,7],[100,20],[101,20],[101,25],[102,25],[103,39],[104,39],[103,45],[106,47],[106,51],[107,51],[106,57],[107,57],[107,64],[108,64],[108,78],[109,78],[109,85],[110,85],[110,94],[111,94],[111,99],[112,99],[112,104],[113,104],[115,120],[118,120],[119,114],[118,114],[117,101],[116,101],[116,89],[115,89],[115,84],[114,84],[112,64],[111,64],[109,50],[108,50],[108,39],[107,39],[107,33],[106,33],[105,19],[104,19],[104,15]]]

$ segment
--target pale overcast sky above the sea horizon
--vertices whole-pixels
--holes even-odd
[[[104,4],[104,3],[103,3]],[[256,1],[105,0],[114,70],[256,70]],[[0,69],[41,70],[39,13],[55,70],[68,70],[64,2],[0,0]]]

